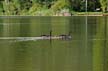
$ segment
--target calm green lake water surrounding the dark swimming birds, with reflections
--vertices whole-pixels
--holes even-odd
[[[108,17],[0,17],[0,71],[108,71],[107,44]]]

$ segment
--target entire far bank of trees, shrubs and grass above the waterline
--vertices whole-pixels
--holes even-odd
[[[108,0],[0,0],[0,16],[108,16]]]

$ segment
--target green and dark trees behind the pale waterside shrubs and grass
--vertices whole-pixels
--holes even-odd
[[[86,0],[0,0],[0,15],[34,14],[38,11],[85,12]],[[108,0],[87,0],[88,12],[108,12]]]

